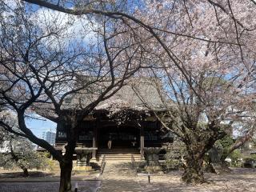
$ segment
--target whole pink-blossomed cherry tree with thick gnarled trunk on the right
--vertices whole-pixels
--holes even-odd
[[[233,6],[255,11],[250,2],[213,5],[208,1],[166,1],[158,6],[149,3],[146,10],[152,14],[148,17],[140,13],[141,19],[147,17],[157,31],[158,38],[150,46],[151,61],[159,67],[149,75],[159,79],[155,86],[166,113],[156,115],[186,145],[185,182],[205,181],[204,154],[218,139],[232,134],[234,122],[246,122],[248,126],[255,122],[255,54],[249,48],[254,46],[255,21],[248,25],[250,12],[234,12]],[[242,15],[240,21],[236,14]],[[151,108],[150,103],[146,104]],[[250,117],[250,122],[244,115]]]

